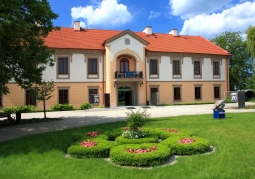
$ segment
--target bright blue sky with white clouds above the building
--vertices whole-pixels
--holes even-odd
[[[54,25],[154,33],[178,29],[182,35],[213,38],[224,31],[245,36],[255,25],[255,0],[48,0],[59,18]]]

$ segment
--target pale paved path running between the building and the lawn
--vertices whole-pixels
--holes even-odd
[[[246,103],[246,105],[255,105],[255,103]],[[180,106],[165,106],[156,107],[150,106],[146,108],[147,113],[151,117],[167,117],[180,115],[196,115],[196,114],[212,114],[214,105],[180,105]],[[255,109],[234,109],[237,108],[237,103],[226,104],[226,113],[234,112],[255,112]],[[134,106],[134,111],[143,110],[145,108]],[[117,108],[98,108],[78,111],[61,111],[47,112],[47,117],[60,117],[63,120],[51,122],[39,122],[32,124],[22,124],[16,126],[0,127],[0,141],[11,140],[22,136],[58,131],[68,128],[87,126],[92,124],[123,121],[126,117],[126,112],[129,109],[125,107]],[[30,118],[42,118],[43,113],[23,113],[22,120]]]

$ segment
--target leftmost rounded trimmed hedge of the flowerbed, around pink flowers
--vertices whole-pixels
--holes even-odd
[[[80,145],[82,141],[95,141],[97,142],[96,146],[93,147],[83,147]],[[67,149],[67,152],[71,157],[74,158],[101,158],[109,157],[110,148],[116,144],[111,141],[107,141],[100,138],[87,139],[77,142],[76,144],[70,146]]]

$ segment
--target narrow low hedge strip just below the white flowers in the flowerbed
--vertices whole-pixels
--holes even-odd
[[[145,138],[136,138],[128,139],[123,136],[119,136],[115,140],[118,145],[122,144],[142,144],[142,143],[158,143],[158,139],[155,137],[145,137]]]

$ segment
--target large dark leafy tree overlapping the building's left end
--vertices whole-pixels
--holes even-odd
[[[58,17],[47,0],[0,1],[0,94],[9,93],[6,84],[14,80],[29,89],[40,83],[54,51],[44,45]]]

